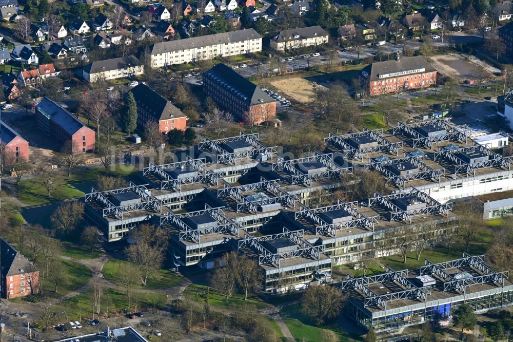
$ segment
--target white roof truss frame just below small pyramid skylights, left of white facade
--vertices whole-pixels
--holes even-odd
[[[404,175],[394,175],[387,168],[387,166],[394,164],[402,164],[405,162],[409,162],[415,165],[419,169],[419,172]],[[383,176],[385,176],[385,184],[388,185],[392,183],[394,185],[400,186],[403,189],[405,187],[406,182],[419,179],[436,180],[440,182],[440,170],[433,170],[432,168],[424,164],[424,162],[422,162],[420,158],[416,157],[404,157],[399,159],[390,159],[386,161],[369,160],[369,163],[367,165],[364,165],[363,169],[378,170],[379,172],[381,172]]]

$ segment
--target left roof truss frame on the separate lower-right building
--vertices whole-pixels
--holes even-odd
[[[405,278],[408,270],[393,271],[388,266],[386,273],[366,276],[361,278],[353,278],[347,275],[347,280],[340,283],[340,288],[344,290],[357,290],[364,297],[365,307],[376,307],[385,309],[388,302],[399,299],[419,299],[427,300],[427,295],[431,294],[431,287],[415,287]],[[378,295],[369,289],[369,285],[383,282],[392,282],[401,287],[402,290],[393,291],[386,294]]]

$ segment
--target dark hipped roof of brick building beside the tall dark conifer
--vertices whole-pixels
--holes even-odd
[[[145,84],[139,84],[130,92],[133,94],[137,106],[144,106],[157,121],[185,117],[179,108]]]

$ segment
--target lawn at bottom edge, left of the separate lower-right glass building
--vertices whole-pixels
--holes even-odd
[[[280,316],[285,320],[285,324],[290,333],[298,341],[306,340],[308,342],[319,342],[321,331],[323,329],[332,330],[340,337],[340,341],[347,342],[349,339],[344,331],[337,324],[328,324],[321,327],[314,326],[307,317],[301,313],[301,304],[293,304],[280,311]]]

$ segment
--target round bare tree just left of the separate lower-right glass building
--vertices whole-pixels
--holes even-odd
[[[340,314],[343,299],[342,292],[335,287],[311,286],[303,294],[301,311],[321,326],[326,319]]]

